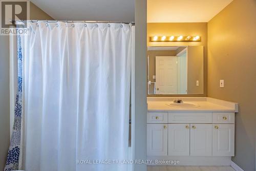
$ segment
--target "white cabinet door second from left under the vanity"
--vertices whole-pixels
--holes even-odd
[[[189,156],[189,124],[168,124],[168,156]]]

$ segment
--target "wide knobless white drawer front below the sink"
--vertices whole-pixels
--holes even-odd
[[[211,123],[211,112],[169,112],[168,123]]]

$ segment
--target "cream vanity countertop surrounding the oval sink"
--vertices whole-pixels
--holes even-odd
[[[156,99],[156,98],[155,98]],[[182,98],[184,102],[196,103],[199,106],[197,108],[179,108],[176,106],[169,106],[168,104],[172,103],[173,100],[168,101],[159,99],[159,100],[147,100],[147,111],[148,112],[238,112],[238,103],[232,103],[228,101],[213,99],[205,97],[205,100],[202,98],[197,99],[193,98],[187,99]]]

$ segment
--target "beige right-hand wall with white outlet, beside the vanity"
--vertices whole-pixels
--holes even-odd
[[[232,161],[255,170],[255,0],[234,0],[208,23],[208,96],[239,103]]]

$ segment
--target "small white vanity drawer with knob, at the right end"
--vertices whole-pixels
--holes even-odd
[[[234,123],[234,113],[214,112],[212,113],[212,123]]]

